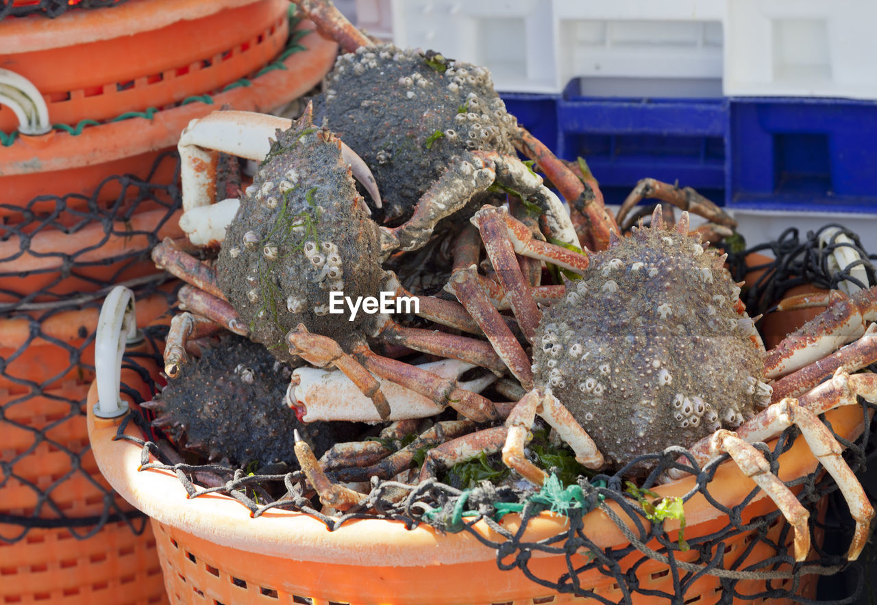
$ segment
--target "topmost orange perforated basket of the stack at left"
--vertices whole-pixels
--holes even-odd
[[[51,21],[6,19],[0,61],[39,89],[52,123],[100,122],[252,74],[281,52],[288,7],[286,0],[150,0]],[[193,11],[197,18],[185,17]],[[17,126],[11,109],[0,109],[0,130]]]

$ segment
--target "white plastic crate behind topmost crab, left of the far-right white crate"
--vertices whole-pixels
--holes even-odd
[[[398,46],[488,67],[501,91],[721,95],[724,0],[357,0],[359,25]]]

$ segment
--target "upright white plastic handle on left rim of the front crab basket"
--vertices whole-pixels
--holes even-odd
[[[103,301],[95,334],[95,374],[97,403],[95,415],[116,418],[128,412],[128,404],[119,397],[122,379],[122,356],[125,345],[137,338],[134,292],[117,285]]]

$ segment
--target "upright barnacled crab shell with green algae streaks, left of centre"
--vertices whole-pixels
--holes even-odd
[[[373,296],[386,278],[379,256],[339,139],[305,114],[277,132],[242,196],[219,251],[217,283],[253,341],[292,362],[285,336],[300,322],[336,341],[350,336],[357,324],[329,313],[330,292]]]

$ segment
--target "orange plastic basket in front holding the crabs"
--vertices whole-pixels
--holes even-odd
[[[142,377],[131,370],[123,370],[121,380],[129,386],[142,387]],[[142,388],[138,390],[142,392]],[[89,439],[98,466],[121,496],[152,517],[173,603],[487,605],[576,600],[570,594],[554,594],[517,568],[501,571],[496,565],[496,552],[467,532],[441,534],[424,525],[406,530],[401,522],[377,519],[353,520],[336,531],[328,531],[316,517],[295,511],[267,510],[260,517],[251,518],[249,510],[228,496],[189,498],[173,472],[138,471],[142,448],[128,441],[113,440],[120,419],[96,418],[92,410],[96,400],[95,383],[88,399]],[[846,439],[854,440],[863,431],[863,415],[856,406],[832,410],[827,419]],[[125,431],[139,437],[132,423]],[[799,438],[779,457],[778,475],[788,482],[813,472],[816,466],[816,459]],[[695,477],[689,476],[654,491],[659,496],[681,496],[694,484]],[[744,502],[753,485],[736,465],[725,463],[717,468],[709,483],[709,494],[718,503],[732,507]],[[614,503],[610,507],[618,512]],[[743,523],[775,510],[774,503],[759,492],[746,504]],[[728,523],[724,513],[700,493],[685,504],[685,518],[687,539],[709,535]],[[625,519],[624,523],[636,533],[632,521]],[[520,519],[517,515],[506,515],[501,524],[515,533]],[[524,541],[556,536],[566,525],[566,517],[542,513],[528,524]],[[678,523],[667,521],[665,527],[674,539]],[[474,530],[488,540],[503,540],[484,522],[475,524]],[[780,532],[784,530],[785,521],[779,517],[768,533],[780,542]],[[774,552],[766,552],[771,549],[760,541],[750,544],[756,531],[742,531],[725,541],[725,568],[745,568],[774,556]],[[602,510],[584,517],[583,532],[602,549],[630,544]],[[787,535],[790,540],[791,532]],[[816,544],[820,539],[816,532]],[[649,546],[660,548],[657,544]],[[676,554],[680,560],[698,556],[694,550]],[[673,579],[667,565],[654,559],[642,563],[641,557],[641,553],[632,552],[620,561],[622,570],[637,565],[640,587],[672,593]],[[572,562],[580,566],[586,561],[585,554],[576,554]],[[564,556],[543,552],[533,553],[528,568],[542,578],[560,578],[569,571]],[[781,569],[788,571],[788,566]],[[623,598],[613,578],[596,570],[581,574],[579,580],[581,587],[609,601]],[[791,582],[773,580],[771,585],[790,589]],[[737,589],[742,594],[757,594],[765,586],[765,580],[741,580]],[[796,594],[812,596],[815,586],[815,576],[804,576]],[[654,602],[652,597],[642,594],[633,598],[636,603]],[[687,603],[706,604],[724,601],[724,594],[717,577],[703,575],[688,587],[683,598]]]

